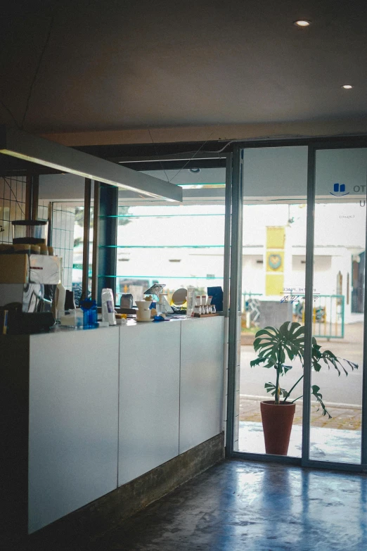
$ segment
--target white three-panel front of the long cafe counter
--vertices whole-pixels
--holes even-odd
[[[224,317],[26,340],[30,533],[221,432]]]

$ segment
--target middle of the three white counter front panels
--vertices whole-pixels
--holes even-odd
[[[120,330],[119,486],[179,455],[181,322]]]

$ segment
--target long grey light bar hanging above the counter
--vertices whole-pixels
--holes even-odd
[[[0,125],[0,153],[121,189],[182,202],[182,188],[176,184],[56,144],[54,141],[32,136],[13,127]]]

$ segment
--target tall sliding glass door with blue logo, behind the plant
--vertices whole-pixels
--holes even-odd
[[[238,164],[227,446],[252,459],[361,469],[367,148],[261,144],[239,148]],[[274,401],[269,427],[262,403]],[[274,417],[285,405],[294,410],[288,449],[279,447],[287,421]]]

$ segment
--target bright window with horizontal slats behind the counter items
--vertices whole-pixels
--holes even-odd
[[[122,293],[140,300],[153,283],[165,284],[168,301],[182,287],[223,288],[225,170],[147,173],[183,186],[184,203],[119,194],[117,304]]]

